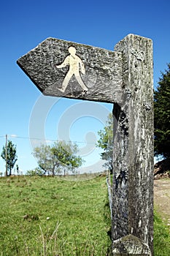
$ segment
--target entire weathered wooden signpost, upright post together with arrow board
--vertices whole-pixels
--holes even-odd
[[[153,255],[152,41],[115,51],[47,38],[18,59],[45,95],[114,103],[112,255]]]

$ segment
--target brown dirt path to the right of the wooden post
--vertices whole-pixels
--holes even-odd
[[[170,178],[154,181],[154,206],[170,228]]]

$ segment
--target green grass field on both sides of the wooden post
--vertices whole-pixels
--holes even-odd
[[[104,256],[110,214],[105,177],[0,178],[0,256]],[[155,256],[170,255],[169,230],[155,213]]]

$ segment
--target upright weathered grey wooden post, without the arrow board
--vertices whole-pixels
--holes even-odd
[[[123,104],[115,104],[113,255],[153,255],[152,41],[128,35],[123,58]]]

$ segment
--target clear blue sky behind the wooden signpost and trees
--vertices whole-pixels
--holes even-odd
[[[88,170],[97,171],[90,167],[98,163],[93,145],[112,105],[87,102],[85,107],[85,102],[77,100],[42,97],[16,61],[47,37],[113,50],[127,34],[138,34],[153,40],[157,86],[161,71],[170,62],[169,10],[169,0],[2,1],[0,151],[7,134],[17,145],[20,170],[26,172],[36,167],[31,155],[33,138],[43,135],[50,143],[65,136],[77,141]],[[87,113],[82,115],[80,110],[85,108]],[[2,159],[0,171],[4,172]]]

